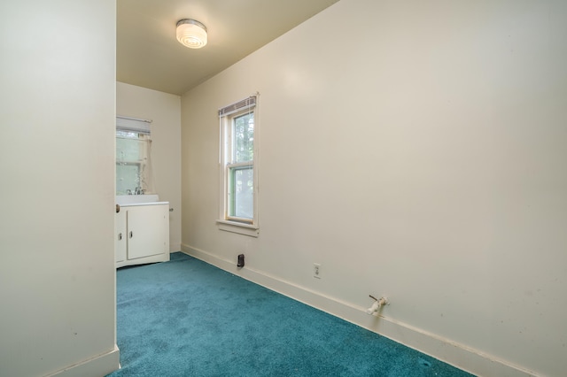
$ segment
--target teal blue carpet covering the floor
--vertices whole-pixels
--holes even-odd
[[[183,253],[116,274],[111,377],[470,376]]]

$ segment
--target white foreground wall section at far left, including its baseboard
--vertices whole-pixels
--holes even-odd
[[[119,365],[115,8],[0,3],[3,376],[99,377]]]

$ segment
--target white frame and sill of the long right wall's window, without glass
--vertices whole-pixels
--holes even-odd
[[[250,96],[242,101],[219,110],[220,119],[220,153],[219,166],[221,178],[220,193],[220,213],[217,224],[219,229],[237,233],[241,235],[250,235],[258,237],[260,235],[260,226],[258,218],[258,194],[259,194],[259,156],[260,156],[260,121],[258,116],[258,96]],[[242,115],[253,113],[254,117],[254,137],[253,137],[253,158],[252,162],[234,163],[233,156],[233,138],[232,129],[234,119]],[[238,168],[252,165],[253,188],[252,188],[252,219],[237,218],[229,216],[230,190],[229,190],[229,174],[231,168]]]

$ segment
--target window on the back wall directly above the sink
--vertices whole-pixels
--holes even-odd
[[[150,122],[116,118],[116,195],[152,191]]]

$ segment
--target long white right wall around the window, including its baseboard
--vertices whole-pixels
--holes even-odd
[[[473,373],[563,374],[566,40],[559,0],[338,2],[183,96],[183,250]],[[215,114],[256,90],[252,238],[215,225]]]

